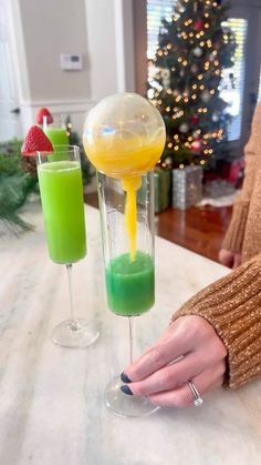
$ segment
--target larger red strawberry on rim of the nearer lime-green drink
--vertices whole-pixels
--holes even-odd
[[[53,146],[42,129],[38,125],[32,125],[27,133],[21,153],[23,156],[34,156],[36,152],[52,153]]]

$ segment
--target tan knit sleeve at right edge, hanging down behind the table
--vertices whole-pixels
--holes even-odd
[[[261,103],[258,104],[251,135],[244,149],[246,174],[222,247],[241,252],[242,262],[261,253]]]

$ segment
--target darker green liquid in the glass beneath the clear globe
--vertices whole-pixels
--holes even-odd
[[[134,261],[125,253],[106,266],[108,307],[123,316],[135,316],[154,305],[154,264],[149,254],[136,252]]]

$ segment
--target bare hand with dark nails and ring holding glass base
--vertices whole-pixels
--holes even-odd
[[[158,342],[122,374],[126,394],[148,396],[156,405],[192,403],[188,381],[203,395],[223,383],[227,350],[200,316],[180,316]]]

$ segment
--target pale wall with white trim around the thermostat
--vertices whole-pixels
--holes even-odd
[[[71,114],[82,131],[100,99],[134,90],[132,0],[11,0],[23,133],[40,107]],[[82,53],[62,71],[60,53]]]

